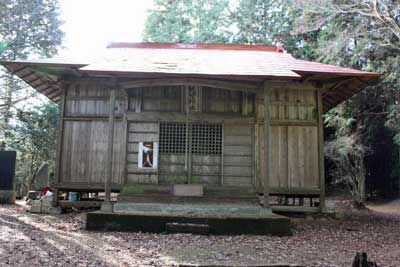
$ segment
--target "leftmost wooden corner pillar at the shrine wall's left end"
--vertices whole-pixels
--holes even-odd
[[[58,134],[57,134],[57,152],[56,152],[56,168],[54,175],[54,183],[56,188],[53,188],[53,206],[58,206],[58,184],[60,183],[61,177],[61,161],[62,161],[62,147],[63,147],[63,135],[64,135],[64,114],[65,114],[65,101],[66,101],[66,85],[63,84],[61,87],[60,95],[60,118],[58,124]]]

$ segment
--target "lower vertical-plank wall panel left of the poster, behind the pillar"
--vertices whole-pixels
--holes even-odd
[[[115,122],[113,177],[111,183],[124,182],[125,134],[121,121]],[[104,185],[108,160],[107,120],[65,121],[60,183]]]

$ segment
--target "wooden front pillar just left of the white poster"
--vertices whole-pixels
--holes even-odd
[[[108,160],[107,160],[107,175],[104,184],[104,191],[106,193],[105,202],[111,201],[111,180],[112,180],[112,166],[114,154],[114,119],[115,119],[115,88],[110,90],[110,104],[108,113]]]

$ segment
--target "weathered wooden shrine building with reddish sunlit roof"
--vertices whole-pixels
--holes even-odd
[[[56,190],[277,210],[323,209],[322,114],[380,76],[260,45],[112,43],[94,62],[1,64],[59,103]]]

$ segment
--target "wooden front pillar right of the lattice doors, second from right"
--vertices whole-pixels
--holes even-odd
[[[264,82],[264,186],[263,204],[269,207],[269,88],[268,82]]]

